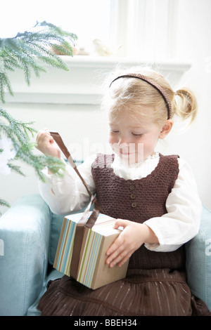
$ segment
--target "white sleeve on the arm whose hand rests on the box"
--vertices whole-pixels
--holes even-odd
[[[202,204],[190,166],[179,159],[179,175],[167,197],[167,213],[145,222],[158,237],[160,244],[146,244],[154,251],[174,251],[197,235]]]

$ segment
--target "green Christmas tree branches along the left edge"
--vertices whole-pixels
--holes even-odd
[[[25,31],[13,38],[0,39],[0,101],[5,103],[5,91],[13,95],[8,72],[16,69],[23,70],[25,81],[30,85],[32,73],[40,77],[45,72],[41,62],[67,70],[68,67],[56,53],[72,56],[72,45],[77,36],[63,31],[48,22],[37,22],[31,31]],[[34,168],[41,180],[44,177],[41,170],[49,166],[51,172],[62,175],[63,162],[53,157],[34,153],[34,143],[31,138],[36,133],[33,123],[25,123],[13,118],[3,107],[0,107],[0,173],[15,171],[24,175],[15,161],[21,159]],[[1,199],[0,205],[9,206]]]

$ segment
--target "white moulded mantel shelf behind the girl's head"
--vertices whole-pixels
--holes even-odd
[[[106,74],[117,66],[151,65],[160,70],[170,84],[177,84],[182,74],[191,67],[190,62],[176,60],[152,64],[148,60],[89,55],[60,58],[68,66],[68,72],[42,64],[47,72],[42,73],[39,79],[32,77],[30,86],[26,85],[23,72],[17,70],[11,73],[9,77],[14,95],[6,93],[6,103],[98,104],[101,84]]]

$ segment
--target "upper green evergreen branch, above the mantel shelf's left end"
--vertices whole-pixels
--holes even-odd
[[[32,70],[36,77],[46,72],[37,59],[61,70],[68,71],[67,65],[56,55],[72,56],[72,44],[77,40],[73,33],[66,32],[48,22],[37,22],[35,31],[16,34],[13,38],[0,39],[0,100],[5,103],[5,91],[13,95],[6,71],[21,69],[27,85],[30,85]]]

